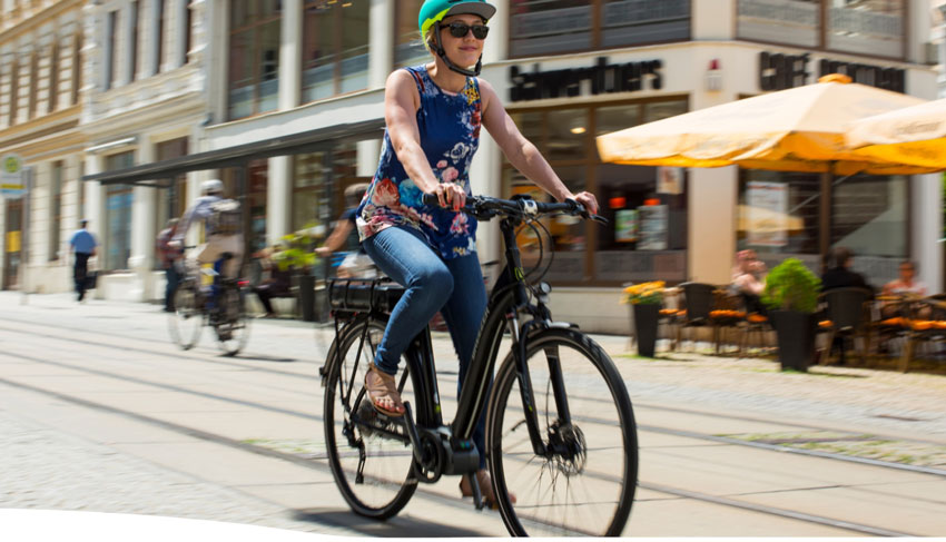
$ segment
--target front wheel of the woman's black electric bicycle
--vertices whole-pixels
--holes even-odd
[[[494,384],[486,441],[503,521],[514,535],[618,536],[638,474],[624,383],[608,354],[578,331],[545,329],[528,341],[535,438],[545,453],[535,453],[510,354]]]

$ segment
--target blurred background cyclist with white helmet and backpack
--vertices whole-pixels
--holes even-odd
[[[169,246],[180,249],[184,237],[195,220],[204,220],[206,243],[198,248],[197,264],[215,264],[224,253],[233,258],[219,269],[224,278],[236,278],[243,262],[243,223],[239,204],[224,199],[224,184],[218,179],[205,180],[200,185],[203,196],[194,201],[181,217]],[[188,258],[193,263],[194,258]]]

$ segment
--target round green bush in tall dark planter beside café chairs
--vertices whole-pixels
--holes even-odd
[[[782,371],[794,368],[806,372],[815,356],[818,292],[821,279],[801,260],[787,258],[769,272],[762,303],[778,337],[778,357]]]

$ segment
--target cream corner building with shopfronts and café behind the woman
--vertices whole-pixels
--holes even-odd
[[[102,268],[112,273],[105,280],[116,286],[100,287],[99,295],[109,297],[155,296],[147,277],[149,244],[166,216],[160,209],[174,214],[194,196],[193,189],[142,185],[176,186],[167,179],[181,175],[189,179],[178,181],[183,187],[223,178],[246,204],[249,252],[331,224],[344,188],[369,180],[376,167],[387,75],[428,58],[416,31],[421,0],[191,0],[185,11],[191,45],[184,50],[195,61],[170,62],[168,73],[156,73],[147,51],[162,41],[141,27],[154,26],[144,22],[154,18],[124,14],[154,10],[155,1],[86,10],[96,43],[88,61],[111,66],[90,68],[98,79],[83,101],[88,208],[109,236],[127,224],[130,239],[106,239]],[[174,1],[164,3],[168,11]],[[555,287],[558,317],[623,333],[622,284],[726,284],[741,248],[769,263],[800,257],[818,269],[830,247],[849,246],[856,268],[878,286],[911,258],[930,290],[942,289],[939,176],[856,176],[825,186],[802,174],[602,164],[594,147],[601,134],[815,82],[827,72],[935,98],[929,42],[937,22],[927,0],[493,3],[499,11],[482,77],[559,176],[573,190],[594,191],[610,219],[607,227],[544,224],[555,240],[545,277]],[[108,47],[121,39],[116,32],[136,36],[135,28],[137,71],[127,59],[134,48]],[[174,116],[166,114],[177,98],[161,93],[170,79],[189,104]],[[184,157],[157,150],[185,137],[186,147],[176,147]],[[480,194],[532,191],[485,132],[472,183]],[[760,205],[785,217],[780,227],[751,219],[750,208]],[[500,257],[494,226],[480,231],[481,259]],[[536,244],[528,233],[522,242]]]

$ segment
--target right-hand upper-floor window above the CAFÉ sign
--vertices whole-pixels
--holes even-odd
[[[876,57],[904,56],[904,0],[829,0],[828,49]]]

